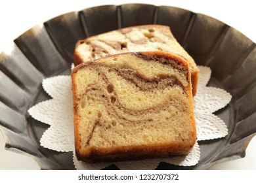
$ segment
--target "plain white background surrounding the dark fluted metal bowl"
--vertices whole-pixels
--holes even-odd
[[[12,40],[34,25],[66,12],[83,10],[98,5],[121,5],[124,3],[145,3],[167,5],[207,14],[238,29],[256,42],[255,3],[244,1],[203,0],[146,0],[146,1],[96,1],[96,0],[5,0],[0,3],[0,52],[9,50]],[[226,163],[214,165],[211,169],[254,169],[256,170],[256,138],[248,145],[246,156]],[[0,169],[39,169],[30,157],[5,150],[5,141],[0,133]]]

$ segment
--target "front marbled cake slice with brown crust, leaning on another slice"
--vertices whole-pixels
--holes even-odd
[[[196,125],[188,63],[129,52],[72,71],[75,152],[86,162],[188,154]]]

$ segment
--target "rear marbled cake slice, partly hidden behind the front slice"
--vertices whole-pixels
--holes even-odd
[[[143,51],[171,52],[189,63],[192,81],[192,92],[196,95],[199,69],[191,56],[165,25],[140,25],[126,27],[108,33],[102,33],[85,40],[78,41],[74,51],[74,64],[84,61],[119,54],[123,52]]]

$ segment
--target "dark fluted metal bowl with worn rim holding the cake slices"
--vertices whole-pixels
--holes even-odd
[[[39,145],[49,125],[34,120],[28,108],[50,99],[41,87],[43,78],[70,74],[79,39],[143,24],[169,25],[196,63],[211,67],[209,86],[232,94],[230,104],[215,112],[226,123],[228,135],[200,141],[201,158],[195,166],[161,162],[157,169],[208,169],[223,159],[244,157],[256,133],[255,43],[204,14],[142,4],[106,5],[60,15],[20,35],[11,54],[0,54],[0,128],[6,148],[30,154],[41,169],[74,169],[72,152],[55,152]]]

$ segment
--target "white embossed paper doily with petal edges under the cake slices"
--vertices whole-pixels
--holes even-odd
[[[230,102],[231,95],[220,88],[207,87],[206,84],[211,77],[211,69],[203,66],[198,66],[198,68],[200,69],[200,80],[198,92],[194,97],[198,141],[225,137],[228,134],[228,129],[223,120],[215,116],[213,112],[225,107]],[[71,87],[70,76],[54,76],[43,80],[43,89],[53,99],[38,103],[28,110],[33,118],[50,125],[41,137],[41,146],[58,152],[73,152],[76,169],[108,167],[112,163],[83,163],[75,158]],[[113,163],[120,169],[156,169],[160,161],[174,165],[192,166],[196,165],[199,159],[200,147],[196,142],[187,156]]]

